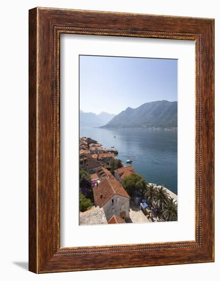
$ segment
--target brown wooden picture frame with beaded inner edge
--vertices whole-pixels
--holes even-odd
[[[195,41],[195,240],[60,247],[60,34]],[[214,261],[214,19],[29,11],[29,270],[35,273]]]

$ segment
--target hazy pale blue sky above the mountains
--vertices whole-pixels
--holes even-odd
[[[80,56],[80,109],[118,114],[151,101],[177,101],[177,60]]]

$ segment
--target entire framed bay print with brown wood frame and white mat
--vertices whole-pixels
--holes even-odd
[[[214,20],[29,11],[29,269],[214,261]]]

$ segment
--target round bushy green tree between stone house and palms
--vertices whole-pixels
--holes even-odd
[[[137,194],[143,196],[146,192],[146,181],[141,175],[132,173],[123,179],[123,188],[128,192],[130,197]]]

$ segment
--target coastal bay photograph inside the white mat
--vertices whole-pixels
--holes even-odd
[[[178,60],[79,56],[79,224],[178,220]]]

